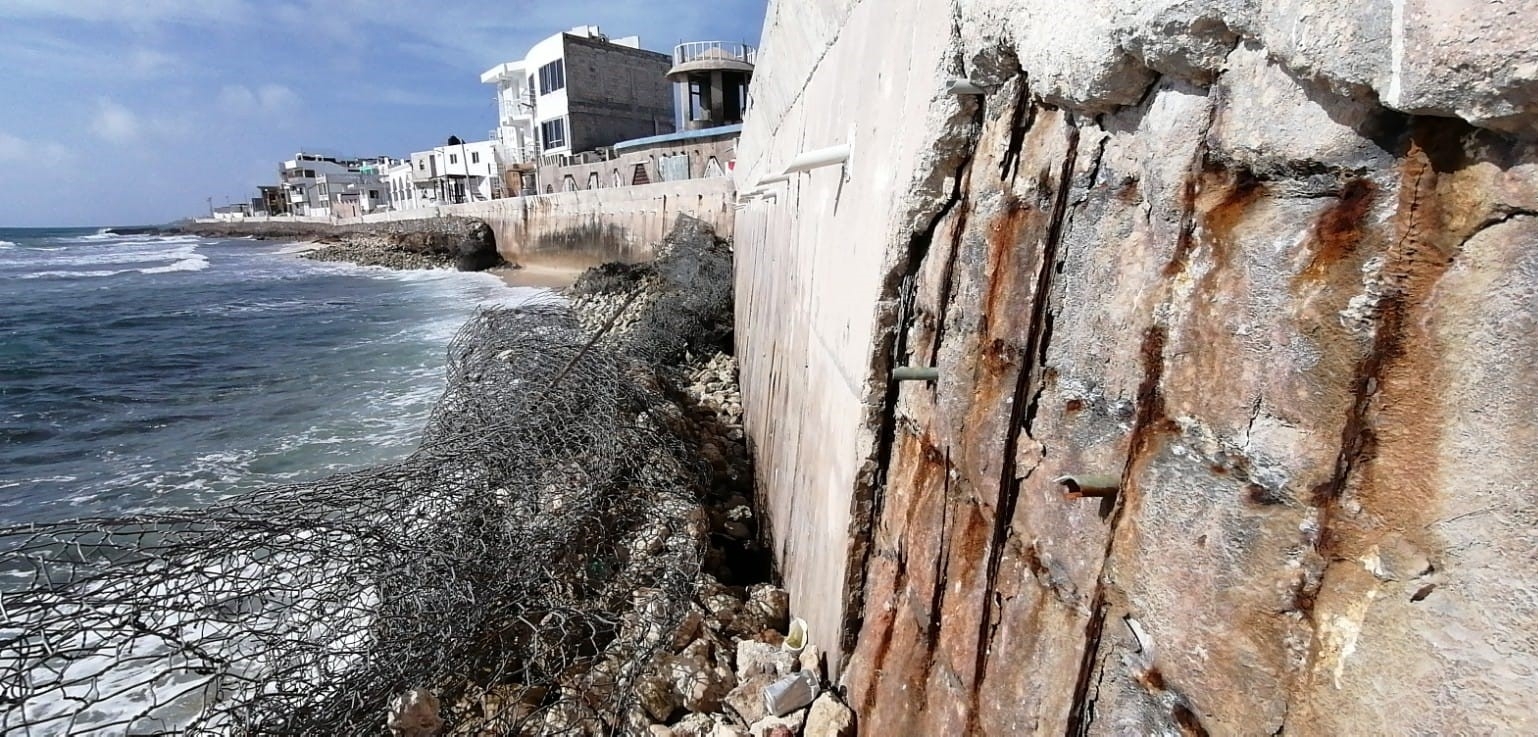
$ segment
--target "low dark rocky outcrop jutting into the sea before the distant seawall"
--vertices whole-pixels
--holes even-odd
[[[346,229],[315,238],[326,248],[303,255],[391,269],[483,271],[501,265],[497,238],[481,220],[440,217]]]

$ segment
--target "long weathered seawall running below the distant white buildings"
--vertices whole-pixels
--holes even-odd
[[[678,215],[700,218],[731,237],[732,198],[732,180],[718,177],[375,212],[340,223],[477,217],[491,225],[497,249],[514,262],[640,262],[652,257],[652,246]]]

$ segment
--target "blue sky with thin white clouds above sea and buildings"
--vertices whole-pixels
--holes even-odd
[[[0,228],[249,200],[297,151],[408,155],[497,125],[480,72],[597,25],[757,45],[766,0],[0,0]]]

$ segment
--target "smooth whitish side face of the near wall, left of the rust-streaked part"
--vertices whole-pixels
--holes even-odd
[[[791,605],[831,652],[858,615],[860,543],[869,540],[892,340],[895,248],[940,206],[935,132],[960,112],[941,98],[949,5],[775,2],[738,145],[740,191],[797,154],[854,138],[838,166],[771,185],[737,220],[741,385],[760,503],[767,512]],[[858,34],[840,29],[858,28]],[[884,83],[849,83],[849,69],[903,60]],[[847,174],[847,177],[846,177]]]

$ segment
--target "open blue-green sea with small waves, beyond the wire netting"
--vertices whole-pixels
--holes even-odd
[[[0,229],[0,525],[189,508],[408,454],[484,274]]]

